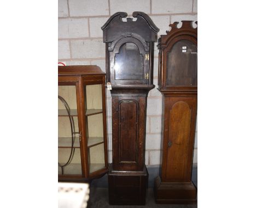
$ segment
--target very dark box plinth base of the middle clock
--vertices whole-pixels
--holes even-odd
[[[114,171],[109,166],[108,197],[110,205],[145,205],[148,170]]]

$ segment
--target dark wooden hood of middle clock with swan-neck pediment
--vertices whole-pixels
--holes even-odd
[[[137,17],[136,21],[127,18],[127,22],[123,22],[121,17],[126,17],[127,14],[121,12],[115,13],[101,27],[103,30],[103,41],[106,42],[107,82],[111,82],[112,87],[129,84],[153,84],[154,42],[156,41],[159,29],[154,25],[148,15],[142,12],[134,12],[132,15],[133,17]],[[124,66],[122,68],[120,65],[115,65],[116,58],[120,56],[120,48],[127,42],[137,46],[138,56],[142,57],[143,63],[140,63],[140,59],[132,59],[132,56],[125,56],[124,63],[131,58],[130,63],[138,66],[143,64],[143,70],[141,71],[142,77],[129,79],[129,76],[127,76],[127,78],[115,79],[115,74],[126,68],[130,69],[130,71],[123,71],[124,74],[136,75],[134,74],[134,70],[136,71],[137,69],[131,69],[130,66]],[[145,78],[145,74],[149,74],[149,78]]]

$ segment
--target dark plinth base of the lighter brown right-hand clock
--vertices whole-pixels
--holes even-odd
[[[161,182],[155,179],[155,202],[157,204],[196,204],[197,189],[192,182]]]

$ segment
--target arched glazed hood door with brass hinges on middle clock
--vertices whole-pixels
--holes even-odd
[[[110,52],[111,84],[148,84],[148,44],[121,38]]]

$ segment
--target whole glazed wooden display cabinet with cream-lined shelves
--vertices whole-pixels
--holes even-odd
[[[88,181],[108,171],[104,84],[98,66],[59,66],[59,181]]]

